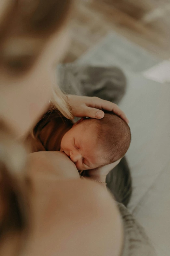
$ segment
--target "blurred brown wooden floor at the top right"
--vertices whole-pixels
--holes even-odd
[[[123,35],[160,58],[170,58],[169,0],[79,0],[72,20],[71,62],[110,31]]]

